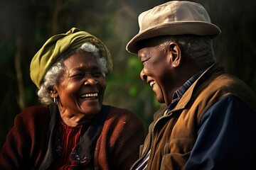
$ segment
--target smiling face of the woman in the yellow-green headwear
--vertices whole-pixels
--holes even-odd
[[[64,67],[55,86],[60,113],[70,117],[99,113],[106,81],[95,57],[90,52],[75,53],[64,61]]]

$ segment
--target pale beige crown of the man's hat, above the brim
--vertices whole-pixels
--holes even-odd
[[[191,21],[208,22],[210,16],[201,4],[191,1],[169,1],[139,15],[139,32],[157,25]]]

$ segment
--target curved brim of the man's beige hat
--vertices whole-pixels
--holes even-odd
[[[211,38],[214,38],[215,36],[220,35],[220,33],[221,31],[218,26],[202,21],[164,23],[143,30],[141,33],[135,35],[134,38],[127,43],[126,50],[137,54],[139,40],[154,38],[161,35],[210,35]]]

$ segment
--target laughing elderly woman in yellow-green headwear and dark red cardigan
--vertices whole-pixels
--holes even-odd
[[[102,104],[112,60],[95,36],[77,28],[50,38],[31,61],[44,105],[16,116],[0,169],[129,169],[144,126],[130,111]]]

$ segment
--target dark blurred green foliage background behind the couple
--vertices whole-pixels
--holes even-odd
[[[138,33],[142,11],[166,1],[150,0],[0,0],[0,147],[14,117],[38,103],[29,77],[34,54],[50,36],[77,27],[100,38],[112,53],[113,72],[107,77],[105,104],[127,108],[147,129],[161,106],[149,85],[142,82],[142,64],[125,50]],[[256,91],[256,1],[196,1],[222,30],[213,40],[215,55],[226,71]]]

